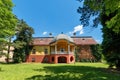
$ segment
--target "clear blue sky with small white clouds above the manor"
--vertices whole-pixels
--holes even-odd
[[[63,32],[77,36],[92,36],[97,42],[102,41],[101,27],[83,28],[80,24],[79,6],[76,0],[13,0],[13,13],[33,27],[34,37],[56,36]]]

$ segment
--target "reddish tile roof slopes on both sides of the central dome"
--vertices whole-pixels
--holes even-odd
[[[95,45],[97,42],[92,37],[71,37],[76,45]],[[36,37],[33,38],[32,45],[49,45],[54,37]]]

